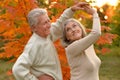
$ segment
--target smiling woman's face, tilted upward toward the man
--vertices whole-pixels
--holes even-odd
[[[76,22],[68,22],[65,26],[66,38],[69,41],[75,41],[82,38],[82,29]]]

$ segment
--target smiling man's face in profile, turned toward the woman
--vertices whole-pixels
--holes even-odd
[[[50,34],[50,19],[47,14],[38,17],[38,23],[35,26],[35,32],[41,37],[47,37]]]

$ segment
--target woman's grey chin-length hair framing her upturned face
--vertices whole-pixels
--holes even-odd
[[[67,47],[69,44],[71,44],[72,42],[67,40],[67,37],[66,37],[66,31],[65,31],[65,27],[66,25],[69,23],[69,22],[75,22],[78,24],[78,26],[82,29],[82,38],[86,36],[86,31],[85,31],[85,27],[76,19],[74,18],[70,18],[70,19],[67,19],[62,25],[63,25],[63,37],[62,37],[62,45],[64,47]]]

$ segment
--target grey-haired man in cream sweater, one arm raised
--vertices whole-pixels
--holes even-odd
[[[85,2],[66,9],[55,23],[50,23],[47,11],[35,8],[28,13],[33,35],[13,66],[17,80],[63,80],[61,66],[53,42],[62,36],[62,22],[82,10]]]

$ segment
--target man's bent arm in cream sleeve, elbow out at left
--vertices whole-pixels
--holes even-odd
[[[37,51],[38,45],[32,36],[12,68],[16,80],[38,80],[37,77],[31,73],[31,66],[35,63]]]

